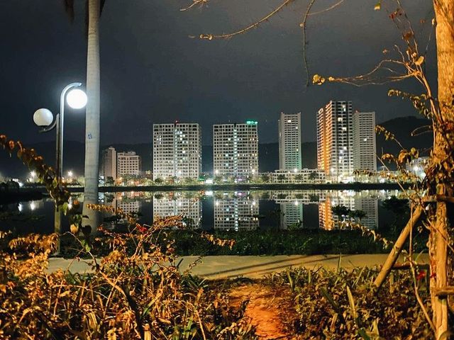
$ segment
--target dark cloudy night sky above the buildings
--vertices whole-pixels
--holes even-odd
[[[337,1],[337,0],[336,0]],[[336,1],[319,0],[313,11]],[[179,11],[182,0],[107,0],[101,18],[101,144],[150,142],[153,123],[200,123],[203,144],[211,125],[254,119],[260,142],[277,141],[281,111],[302,113],[302,139],[315,139],[316,111],[330,99],[351,100],[353,108],[376,111],[377,122],[414,114],[409,103],[388,98],[399,87],[420,93],[411,82],[384,86],[328,84],[305,88],[302,21],[308,0],[294,4],[260,28],[231,40],[188,35],[230,32],[253,23],[277,0],[211,0],[204,8]],[[307,25],[311,74],[347,76],[367,72],[382,50],[402,45],[399,31],[377,0],[345,0],[332,11],[311,16]],[[25,142],[53,140],[38,134],[32,115],[55,112],[61,89],[84,82],[87,41],[84,3],[76,0],[70,24],[62,0],[0,1],[0,133]],[[426,42],[431,1],[404,6]],[[425,26],[421,18],[428,19]],[[428,73],[435,79],[434,44]],[[65,111],[65,140],[82,140],[84,113]]]

